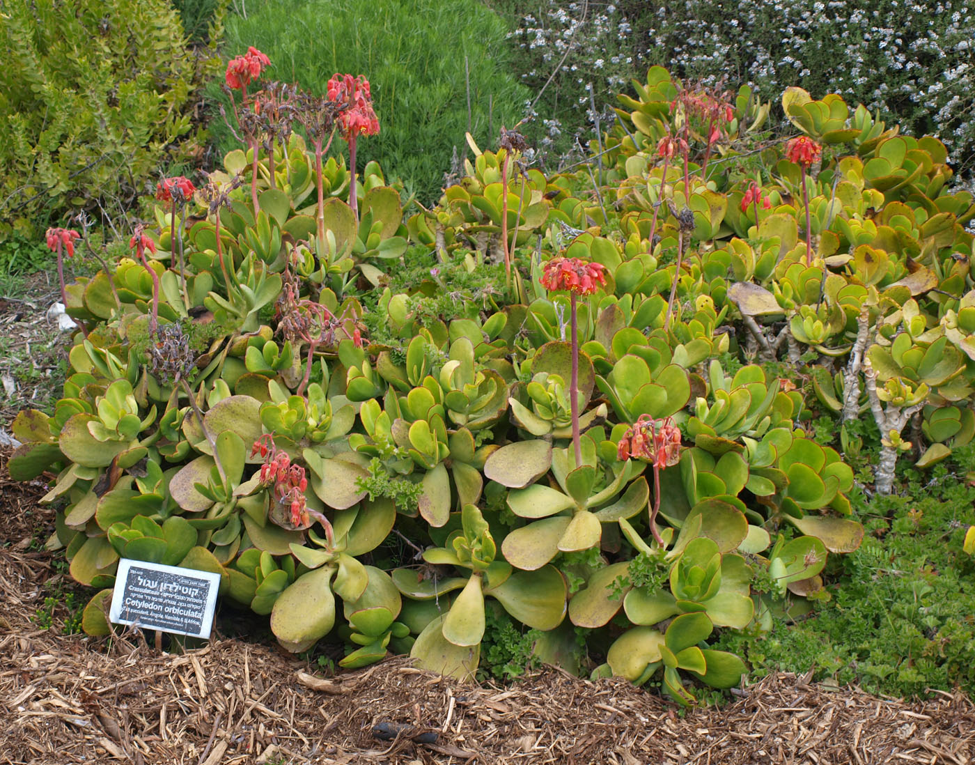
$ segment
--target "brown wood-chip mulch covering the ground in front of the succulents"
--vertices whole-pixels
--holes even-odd
[[[177,655],[139,632],[62,634],[71,585],[61,553],[42,548],[53,513],[37,505],[40,482],[6,475],[8,454],[0,452],[0,764],[963,765],[975,757],[975,705],[960,693],[905,703],[782,673],[731,704],[682,714],[625,681],[552,667],[501,687],[458,683],[398,657],[327,679],[247,638],[217,634]],[[42,628],[46,608],[51,626]]]

